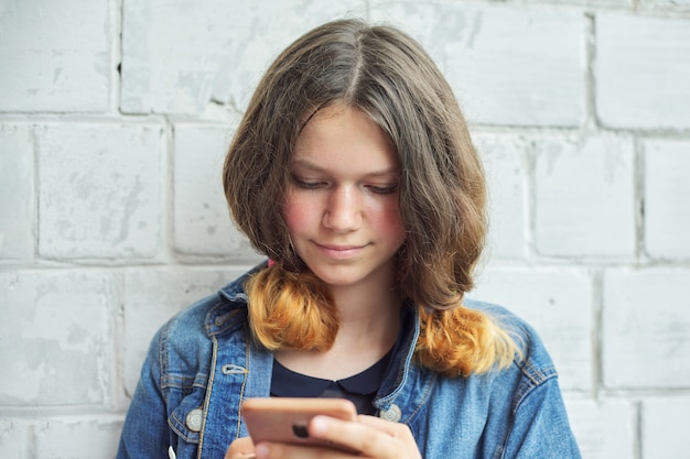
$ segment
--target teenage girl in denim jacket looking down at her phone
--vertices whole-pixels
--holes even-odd
[[[224,186],[267,262],[158,332],[119,458],[579,458],[533,330],[465,298],[485,179],[455,97],[390,26],[326,23],[260,81]],[[339,449],[254,444],[240,404],[337,396]],[[229,447],[229,449],[228,449]]]

